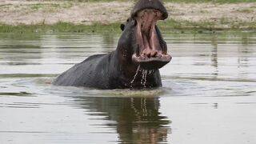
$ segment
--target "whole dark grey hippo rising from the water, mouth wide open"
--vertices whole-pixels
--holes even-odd
[[[84,86],[102,90],[162,86],[159,69],[171,60],[156,26],[168,17],[159,0],[139,0],[122,24],[117,49],[86,58],[58,75],[56,86]]]

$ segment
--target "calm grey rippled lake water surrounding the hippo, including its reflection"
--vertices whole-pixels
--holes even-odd
[[[0,34],[0,143],[256,143],[256,33],[164,33],[157,90],[52,86],[120,34]]]

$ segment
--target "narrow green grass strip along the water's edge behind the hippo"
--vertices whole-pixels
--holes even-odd
[[[175,21],[168,19],[158,22],[158,26],[162,30],[256,30],[256,22],[228,22],[225,18],[219,22],[190,22]],[[121,22],[110,24],[94,23],[93,25],[74,24],[71,22],[58,22],[52,25],[35,24],[35,25],[6,25],[0,24],[0,33],[85,33],[85,32],[118,32],[120,31]]]

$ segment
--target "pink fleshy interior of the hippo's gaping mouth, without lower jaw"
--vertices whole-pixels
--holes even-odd
[[[155,30],[155,23],[161,18],[161,13],[154,9],[145,9],[137,15],[137,55],[145,55],[148,58],[157,57],[162,54],[158,41],[158,34]]]

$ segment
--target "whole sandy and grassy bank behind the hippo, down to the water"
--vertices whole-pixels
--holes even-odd
[[[166,2],[166,10],[170,16],[165,21],[158,22],[162,30],[256,30],[256,0],[163,1]],[[120,24],[129,17],[134,2],[135,0],[0,2],[0,33],[120,32]]]

